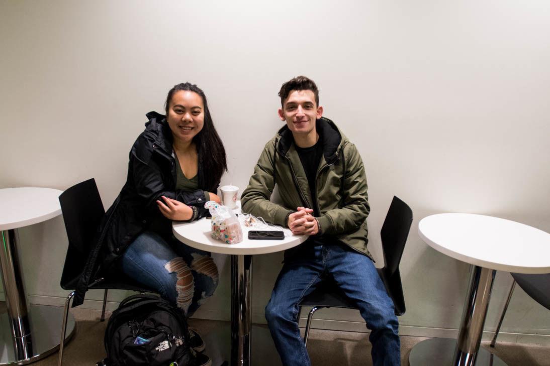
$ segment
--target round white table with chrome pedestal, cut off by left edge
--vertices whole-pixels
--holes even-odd
[[[44,358],[59,348],[63,308],[27,306],[18,256],[18,228],[54,218],[61,213],[59,195],[52,188],[0,189],[0,264],[6,313],[0,315],[0,365],[24,365]],[[70,315],[66,339],[73,335]]]

